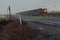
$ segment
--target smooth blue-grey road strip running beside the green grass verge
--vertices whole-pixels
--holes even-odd
[[[60,18],[29,18],[22,15],[17,15],[17,17],[21,17],[25,21],[38,21],[40,23],[46,23],[51,25],[59,25],[60,26]]]

